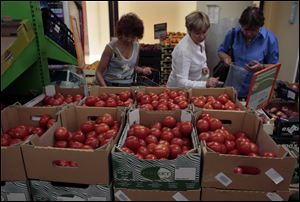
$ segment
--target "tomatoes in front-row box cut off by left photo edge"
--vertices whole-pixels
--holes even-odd
[[[9,128],[4,134],[1,134],[1,146],[19,144],[33,134],[41,136],[55,121],[56,120],[49,115],[42,115],[39,120],[39,126],[26,126],[20,124],[14,128]]]

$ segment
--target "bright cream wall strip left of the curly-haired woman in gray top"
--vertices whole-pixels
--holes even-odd
[[[105,45],[109,42],[109,19],[107,1],[87,1],[87,30],[89,55],[85,56],[88,64],[100,60]]]

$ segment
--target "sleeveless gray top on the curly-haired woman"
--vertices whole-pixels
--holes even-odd
[[[133,43],[132,55],[129,59],[126,59],[117,48],[116,42],[117,39],[115,38],[107,44],[113,54],[103,77],[105,81],[111,83],[130,84],[133,82],[134,68],[139,54],[139,44],[137,42]]]

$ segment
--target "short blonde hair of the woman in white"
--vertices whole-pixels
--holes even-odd
[[[210,27],[209,18],[201,11],[194,11],[185,17],[185,26],[189,32],[204,32]]]

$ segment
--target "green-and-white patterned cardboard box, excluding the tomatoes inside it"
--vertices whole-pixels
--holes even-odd
[[[128,123],[118,145],[112,150],[114,186],[130,189],[187,190],[200,187],[200,152],[197,150],[196,133],[192,132],[194,149],[187,155],[172,160],[140,160],[135,155],[121,150],[127,137],[129,126],[134,122],[149,126],[172,115],[177,121],[191,121],[192,115],[184,110],[140,111],[128,114]]]

